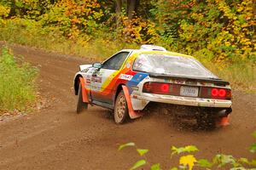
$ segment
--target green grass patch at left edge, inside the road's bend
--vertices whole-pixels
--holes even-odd
[[[4,112],[27,111],[36,99],[35,78],[38,70],[26,62],[19,61],[9,48],[0,54],[0,115]]]

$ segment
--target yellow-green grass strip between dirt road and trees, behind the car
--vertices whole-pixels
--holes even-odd
[[[0,40],[43,48],[61,54],[75,54],[98,61],[107,59],[123,48],[139,48],[138,44],[127,43],[120,38],[113,39],[111,33],[108,32],[99,31],[94,39],[84,35],[84,37],[73,40],[61,36],[61,31],[40,28],[37,22],[31,20],[7,20],[4,26],[0,27]],[[252,63],[241,61],[220,67],[207,57],[199,59],[218,77],[231,82],[231,88],[246,93],[256,93],[256,69]]]

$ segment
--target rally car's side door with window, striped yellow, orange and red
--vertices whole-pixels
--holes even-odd
[[[91,91],[93,100],[112,104],[114,82],[117,81],[119,70],[130,52],[119,52],[102,63],[102,68],[91,77],[95,90]]]

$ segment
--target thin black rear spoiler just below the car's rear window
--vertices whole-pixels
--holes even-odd
[[[173,75],[163,75],[158,73],[148,73],[149,77],[165,78],[165,79],[178,79],[178,80],[188,80],[197,82],[212,82],[218,85],[230,85],[230,82],[226,82],[218,78],[201,78],[201,77],[183,77],[183,76],[173,76]]]

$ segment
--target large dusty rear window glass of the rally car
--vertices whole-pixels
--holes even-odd
[[[218,78],[196,59],[168,54],[140,54],[135,59],[133,70],[170,76]]]

